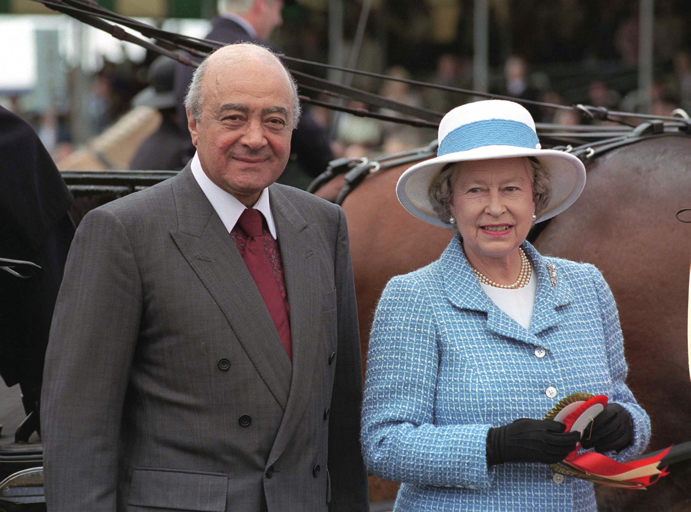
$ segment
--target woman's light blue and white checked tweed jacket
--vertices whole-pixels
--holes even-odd
[[[607,395],[631,414],[634,444],[614,458],[635,457],[648,442],[602,274],[522,247],[538,278],[529,330],[482,292],[458,236],[438,260],[386,285],[370,335],[361,441],[370,473],[403,482],[396,511],[595,511],[588,482],[557,483],[546,464],[488,468],[485,459],[490,427],[542,418],[574,392]],[[536,357],[540,347],[545,357]]]

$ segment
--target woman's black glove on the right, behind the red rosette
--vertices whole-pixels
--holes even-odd
[[[634,442],[634,420],[619,404],[607,404],[593,420],[593,428],[586,427],[580,444],[600,453],[622,451]]]

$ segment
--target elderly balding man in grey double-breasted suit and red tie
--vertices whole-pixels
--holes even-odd
[[[339,207],[274,184],[281,62],[226,46],[187,97],[176,178],[91,211],[46,355],[51,512],[357,511],[360,348]]]

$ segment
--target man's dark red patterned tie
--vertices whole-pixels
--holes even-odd
[[[264,299],[274,325],[276,325],[278,336],[281,336],[285,351],[292,361],[290,322],[285,312],[285,303],[283,303],[281,289],[278,287],[278,283],[276,283],[274,269],[264,252],[263,219],[261,211],[254,208],[245,209],[238,219],[238,225],[247,234],[247,244],[245,245],[245,252],[243,252],[243,260],[245,260],[249,274],[252,274],[254,283]]]

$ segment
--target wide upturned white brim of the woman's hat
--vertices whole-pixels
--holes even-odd
[[[530,149],[517,146],[481,146],[468,151],[448,153],[413,165],[401,174],[396,195],[401,205],[419,219],[435,226],[453,227],[434,213],[427,197],[430,183],[446,164],[470,160],[495,160],[533,156],[547,168],[551,177],[552,195],[549,205],[540,212],[536,222],[547,220],[573,205],[585,187],[585,167],[576,156],[556,149]]]

